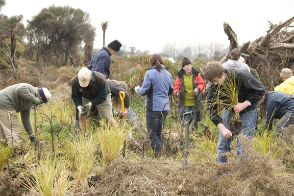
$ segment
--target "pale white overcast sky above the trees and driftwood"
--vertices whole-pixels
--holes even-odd
[[[94,48],[103,45],[101,22],[109,22],[105,44],[118,39],[126,48],[152,53],[172,43],[220,43],[229,46],[223,23],[238,36],[240,45],[266,34],[269,22],[294,16],[294,0],[6,0],[2,13],[23,15],[23,23],[42,8],[69,5],[90,14],[96,27]]]

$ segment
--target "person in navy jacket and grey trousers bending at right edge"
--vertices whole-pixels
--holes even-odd
[[[267,91],[260,100],[261,104],[267,107],[267,118],[265,129],[272,129],[274,119],[279,119],[276,123],[275,134],[284,134],[284,129],[294,124],[294,99],[288,94],[280,91]]]

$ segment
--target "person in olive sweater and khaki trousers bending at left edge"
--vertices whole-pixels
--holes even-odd
[[[9,86],[0,91],[0,136],[1,142],[7,142],[21,147],[22,127],[17,113],[21,112],[21,119],[25,131],[32,144],[36,136],[30,121],[31,107],[47,103],[51,94],[47,88],[35,88],[30,84],[20,83]]]

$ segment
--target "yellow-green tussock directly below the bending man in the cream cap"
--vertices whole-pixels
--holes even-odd
[[[87,178],[95,160],[98,149],[97,134],[89,133],[86,136],[80,135],[79,138],[69,140],[65,145],[67,152],[67,162],[73,170],[76,185],[80,185],[82,179]]]

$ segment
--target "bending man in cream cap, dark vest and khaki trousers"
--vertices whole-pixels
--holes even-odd
[[[112,114],[111,94],[105,75],[91,71],[86,67],[80,69],[72,81],[72,99],[78,109],[78,118],[87,118],[87,113],[96,107],[101,117],[117,126]],[[79,127],[79,120],[75,121],[74,134]]]

